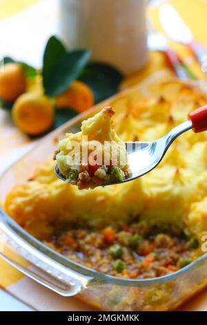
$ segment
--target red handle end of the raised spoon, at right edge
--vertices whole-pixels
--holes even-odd
[[[189,113],[188,120],[192,122],[195,133],[207,131],[207,105]]]

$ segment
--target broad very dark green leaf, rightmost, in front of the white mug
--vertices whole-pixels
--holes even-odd
[[[88,84],[95,97],[101,102],[117,93],[124,75],[108,64],[90,62],[81,73],[79,80]]]

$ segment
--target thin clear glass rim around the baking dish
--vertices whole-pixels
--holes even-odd
[[[194,84],[194,82],[190,82],[190,84],[192,84],[192,83]],[[196,82],[196,84],[197,84],[197,86],[199,86],[198,82]],[[135,87],[131,87],[130,91],[132,91],[132,89],[134,89],[134,88]],[[122,92],[121,95],[124,95],[125,92],[126,91]],[[115,97],[117,97],[117,95],[111,97],[110,100]],[[104,104],[104,102],[102,104]],[[51,138],[52,136],[54,136],[55,133],[61,132],[61,130],[65,129],[66,127],[67,128],[72,127],[76,123],[81,122],[81,120],[83,120],[83,118],[86,118],[87,115],[92,114],[97,109],[98,109],[98,105],[93,106],[92,109],[86,111],[85,113],[81,113],[81,114],[77,115],[75,118],[72,118],[68,122],[61,125],[61,127],[48,133],[48,135],[43,137],[41,140],[38,140],[37,143],[35,143],[35,145],[26,154],[21,156],[14,163],[12,163],[12,165],[10,165],[8,168],[6,168],[6,170],[3,171],[3,173],[0,175],[0,180],[3,177],[3,174],[8,173],[10,171],[10,168],[12,168],[12,166],[14,166],[16,163],[19,163],[19,160],[21,160],[22,158],[26,158],[26,156],[28,156],[34,149],[37,149],[39,144],[45,142],[48,138]],[[26,230],[21,228],[21,226],[16,221],[14,221],[14,219],[12,219],[12,217],[10,217],[6,213],[6,211],[3,210],[3,207],[1,207],[1,206],[0,206],[0,214],[3,216],[4,222],[6,221],[7,227],[10,227],[11,225],[13,225],[14,228],[16,228],[18,230],[18,233],[23,235],[23,236],[20,236],[19,234],[16,233],[16,236],[19,236],[28,245],[32,245],[32,243],[35,243],[35,245],[32,245],[32,248],[37,249],[37,250],[38,250],[38,248],[41,248],[40,252],[42,254],[44,254],[47,258],[50,258],[50,259],[51,259],[51,254],[52,254],[52,256],[57,257],[57,259],[52,258],[53,261],[55,261],[57,263],[60,263],[59,260],[64,261],[65,263],[62,264],[63,266],[66,266],[66,267],[70,268],[71,270],[78,272],[79,275],[92,277],[93,283],[97,283],[97,282],[99,284],[103,284],[103,283],[109,284],[110,283],[110,284],[115,284],[115,285],[119,285],[119,286],[137,286],[137,287],[160,284],[161,282],[175,280],[175,279],[177,279],[177,277],[179,277],[181,275],[188,274],[191,270],[194,270],[197,267],[197,265],[199,265],[199,263],[201,263],[204,259],[207,258],[207,252],[206,252],[205,254],[201,255],[201,257],[198,257],[197,259],[195,259],[195,261],[188,264],[188,266],[185,266],[184,268],[181,268],[180,270],[172,272],[169,275],[164,275],[162,277],[149,278],[149,279],[124,279],[121,277],[120,278],[114,277],[112,275],[107,275],[107,274],[104,274],[97,270],[94,270],[92,268],[83,266],[75,261],[72,261],[71,259],[68,259],[67,257],[63,256],[63,254],[60,254],[59,252],[55,252],[55,250],[52,250],[52,248],[49,248],[47,245],[45,245],[44,243],[39,241],[39,239],[36,239],[34,236],[32,236],[31,234],[26,232]],[[12,228],[12,231],[14,231],[13,228]],[[27,241],[25,239],[25,237],[27,239],[29,239],[29,241]],[[48,254],[46,254],[46,252],[48,252]]]

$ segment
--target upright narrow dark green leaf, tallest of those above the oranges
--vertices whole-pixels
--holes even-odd
[[[52,36],[48,39],[46,48],[43,53],[43,86],[44,89],[48,89],[48,83],[52,77],[52,71],[54,70],[57,62],[63,55],[66,54],[66,48],[57,37]]]

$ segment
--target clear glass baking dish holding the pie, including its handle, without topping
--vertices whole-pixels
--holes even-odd
[[[176,84],[180,82],[175,81],[175,86]],[[37,166],[55,151],[57,141],[63,138],[66,132],[77,131],[81,120],[94,115],[102,106],[112,104],[115,109],[121,109],[129,98],[133,100],[137,96],[157,93],[161,94],[157,83],[135,86],[130,91],[116,95],[70,120],[43,138],[34,149],[1,176],[1,206],[3,207],[10,189],[32,177]],[[3,236],[6,243],[0,255],[6,261],[59,295],[77,295],[101,310],[169,310],[176,308],[207,284],[207,254],[164,277],[144,280],[121,279],[81,266],[51,250],[23,230],[3,208],[0,210],[0,231],[0,236]]]

